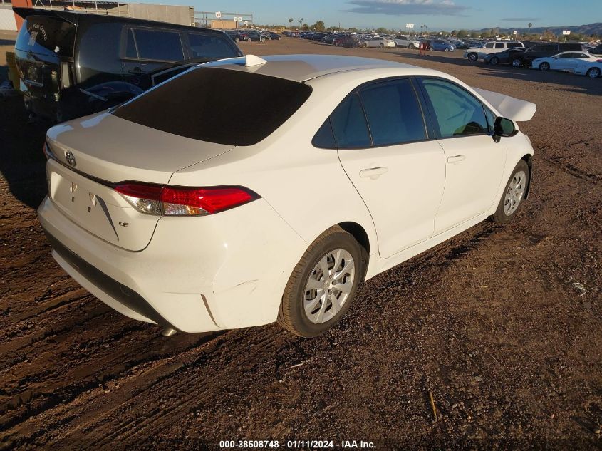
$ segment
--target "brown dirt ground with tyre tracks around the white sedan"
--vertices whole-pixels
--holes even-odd
[[[14,45],[3,36],[0,58]],[[326,336],[272,324],[166,338],[55,264],[36,219],[45,130],[18,98],[0,100],[0,448],[602,449],[602,79],[460,51],[241,47],[386,58],[536,103],[521,123],[536,151],[531,197],[511,224],[479,224],[360,286]]]

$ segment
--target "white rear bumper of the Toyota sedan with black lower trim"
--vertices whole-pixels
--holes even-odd
[[[130,318],[187,332],[276,321],[306,249],[264,199],[214,216],[163,217],[140,252],[94,237],[48,197],[38,217],[53,257],[91,294]]]

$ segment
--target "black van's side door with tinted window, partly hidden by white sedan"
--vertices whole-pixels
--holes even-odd
[[[174,30],[128,27],[123,41],[125,81],[142,90],[152,87],[151,73],[186,58],[180,33]]]

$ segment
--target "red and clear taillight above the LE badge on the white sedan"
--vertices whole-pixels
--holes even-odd
[[[215,214],[259,198],[244,187],[191,188],[123,183],[115,190],[138,211],[165,216]]]

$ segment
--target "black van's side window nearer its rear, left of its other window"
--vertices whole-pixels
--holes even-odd
[[[128,58],[153,61],[184,59],[180,33],[177,31],[130,28],[125,48],[125,56]]]

